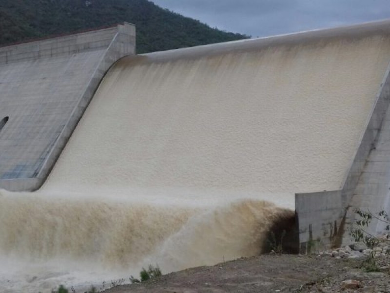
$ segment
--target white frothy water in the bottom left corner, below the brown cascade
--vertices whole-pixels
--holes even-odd
[[[129,283],[129,275],[139,269],[103,270],[92,263],[86,264],[65,259],[26,262],[14,257],[0,257],[1,293],[50,293],[59,285],[85,292],[94,286],[102,291],[111,287],[111,282]]]

